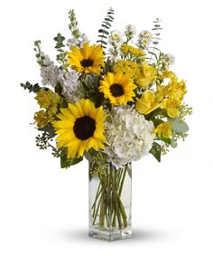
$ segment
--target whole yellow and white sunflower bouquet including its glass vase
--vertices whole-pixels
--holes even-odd
[[[69,11],[71,38],[54,37],[58,64],[34,43],[42,85],[22,83],[35,93],[36,145],[50,148],[61,168],[89,162],[89,235],[113,241],[131,236],[132,161],[152,154],[159,162],[185,139],[186,82],[171,71],[174,58],[159,50],[162,30],[136,36],[134,25],[111,31],[110,8],[97,43],[81,33]]]

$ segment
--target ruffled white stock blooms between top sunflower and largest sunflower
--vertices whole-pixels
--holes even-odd
[[[68,71],[60,71],[59,75],[60,86],[62,88],[61,94],[64,96],[65,100],[69,103],[74,103],[80,100],[80,82],[79,74],[77,71],[68,68]]]

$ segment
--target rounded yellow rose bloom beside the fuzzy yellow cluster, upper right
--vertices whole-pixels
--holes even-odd
[[[135,82],[140,87],[146,87],[149,85],[151,81],[154,81],[154,79],[155,79],[155,69],[153,68],[153,66],[145,63],[140,67],[140,75]]]

